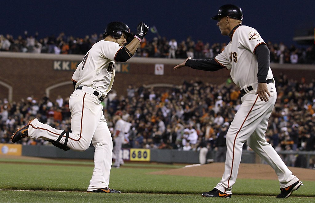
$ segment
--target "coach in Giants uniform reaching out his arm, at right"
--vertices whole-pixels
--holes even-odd
[[[276,172],[280,182],[277,198],[287,198],[302,182],[296,178],[281,160],[277,152],[266,142],[268,119],[277,99],[276,87],[269,67],[270,52],[259,33],[242,25],[243,12],[235,5],[223,5],[212,19],[222,35],[231,38],[224,51],[209,60],[192,60],[188,57],[174,69],[184,66],[193,69],[216,71],[231,70],[233,82],[241,88],[242,105],[237,111],[226,134],[225,170],[220,183],[203,197],[232,196],[232,185],[236,181],[241,162],[243,144],[247,144]]]

